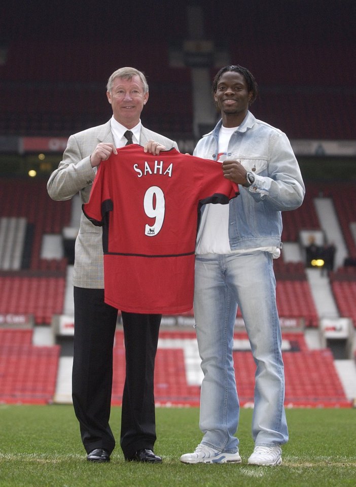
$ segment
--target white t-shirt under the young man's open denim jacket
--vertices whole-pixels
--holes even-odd
[[[218,161],[227,158],[230,137],[238,127],[221,126],[219,131]],[[277,247],[231,250],[229,241],[229,204],[207,204],[199,226],[196,254],[246,254],[247,252],[270,252],[273,258],[280,256]]]

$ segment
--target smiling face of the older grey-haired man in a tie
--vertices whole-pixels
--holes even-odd
[[[106,92],[111,103],[115,120],[126,128],[132,128],[139,122],[140,114],[148,100],[148,92],[144,93],[144,85],[139,76],[132,78],[115,78],[111,91]]]

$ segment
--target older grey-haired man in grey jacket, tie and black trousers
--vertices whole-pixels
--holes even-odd
[[[71,135],[63,160],[47,189],[54,200],[79,193],[89,200],[96,170],[116,148],[128,144],[176,148],[175,142],[145,128],[140,114],[149,98],[143,73],[123,67],[109,78],[107,92],[113,116],[103,125]],[[158,153],[157,152],[157,153]],[[113,378],[113,343],[117,309],[104,302],[101,227],[84,215],[76,241],[74,263],[75,335],[73,404],[87,460],[109,462],[115,439],[109,426]],[[122,399],[121,448],[126,460],[160,463],[153,453],[156,440],[154,362],[161,315],[122,311],[126,379]]]

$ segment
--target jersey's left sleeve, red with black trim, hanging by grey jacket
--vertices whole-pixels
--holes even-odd
[[[82,205],[84,215],[96,226],[102,226],[105,215],[113,210],[109,180],[110,159],[101,162],[90,192],[89,201]]]

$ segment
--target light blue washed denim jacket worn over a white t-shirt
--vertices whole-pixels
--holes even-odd
[[[217,160],[222,125],[200,139],[194,155]],[[265,246],[282,247],[282,211],[295,210],[305,187],[297,159],[286,134],[247,112],[231,135],[225,159],[240,161],[255,175],[249,188],[239,185],[240,195],[229,203],[231,250]]]

